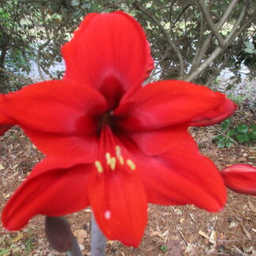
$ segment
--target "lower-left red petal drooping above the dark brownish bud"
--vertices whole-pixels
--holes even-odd
[[[90,171],[66,160],[43,160],[9,199],[2,223],[9,230],[23,228],[37,214],[62,216],[88,206]]]

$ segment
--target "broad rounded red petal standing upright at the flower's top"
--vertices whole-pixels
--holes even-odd
[[[122,12],[85,17],[62,54],[64,79],[99,89],[110,107],[128,88],[141,86],[149,62],[145,32]]]

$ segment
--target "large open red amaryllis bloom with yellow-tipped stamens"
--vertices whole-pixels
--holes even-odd
[[[149,43],[126,13],[89,14],[62,54],[61,81],[0,98],[2,125],[20,125],[47,156],[3,210],[7,229],[90,205],[108,239],[136,247],[148,203],[223,208],[223,179],[187,129],[231,115],[232,101],[185,81],[142,87]]]

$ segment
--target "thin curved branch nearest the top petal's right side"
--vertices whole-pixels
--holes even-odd
[[[155,21],[155,23],[159,26],[161,31],[163,32],[164,36],[168,40],[168,43],[172,47],[173,51],[175,51],[175,54],[179,58],[179,79],[183,79],[184,77],[184,61],[183,56],[181,55],[179,48],[175,45],[175,43],[171,40],[170,36],[168,35],[168,32],[164,28],[164,26],[161,24],[161,22],[152,14],[148,13],[146,9],[144,9],[142,6],[140,6],[137,2],[134,2],[134,6],[137,7],[137,9],[140,9],[142,13],[145,13],[148,17],[152,19],[152,21]]]

